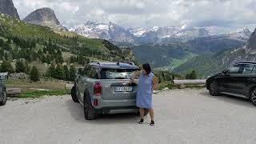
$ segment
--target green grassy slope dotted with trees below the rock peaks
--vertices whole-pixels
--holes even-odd
[[[51,30],[49,27],[22,22],[5,14],[0,14],[0,38],[5,42],[9,40],[12,50],[31,50],[32,48],[37,51],[50,43],[55,51],[62,50],[62,52],[82,55],[86,58],[134,61],[130,50],[121,50],[106,40],[90,39],[72,32]],[[21,46],[21,43],[26,45]],[[31,43],[35,46],[30,46]]]

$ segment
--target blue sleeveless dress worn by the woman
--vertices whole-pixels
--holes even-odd
[[[143,72],[138,77],[138,91],[136,97],[136,106],[140,108],[152,108],[152,78],[154,74],[151,72],[144,76]]]

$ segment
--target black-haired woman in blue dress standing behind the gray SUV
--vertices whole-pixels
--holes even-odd
[[[141,120],[138,122],[142,124],[144,122],[144,109],[150,110],[150,126],[154,126],[154,110],[152,108],[152,93],[156,89],[157,80],[154,74],[151,72],[150,64],[146,63],[142,65],[143,70],[135,73],[131,81],[134,78],[138,78],[138,91],[136,98],[136,106],[139,107],[139,113],[141,115]]]

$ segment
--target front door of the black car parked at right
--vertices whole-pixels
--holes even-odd
[[[226,73],[222,74],[222,76],[218,78],[218,86],[222,92],[234,92],[234,77],[241,74],[241,70],[242,64],[230,66],[230,68],[226,70]]]

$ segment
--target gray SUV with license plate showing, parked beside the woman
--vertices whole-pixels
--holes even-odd
[[[90,62],[79,70],[71,90],[74,102],[84,107],[86,120],[99,114],[138,113],[137,81],[130,77],[138,71],[133,62]]]

